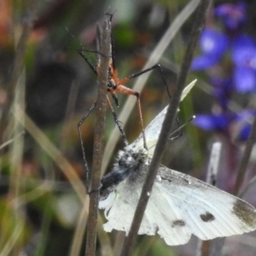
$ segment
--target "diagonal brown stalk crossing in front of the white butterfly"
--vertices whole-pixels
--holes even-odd
[[[148,195],[150,195],[151,193],[151,190],[154,184],[154,179],[156,177],[158,168],[160,166],[160,160],[162,159],[164,150],[166,148],[166,142],[167,142],[166,138],[168,137],[172,129],[172,123],[177,113],[177,107],[180,102],[183,88],[189,73],[189,67],[191,65],[191,61],[193,58],[193,54],[195,52],[197,41],[201,34],[201,30],[204,26],[207,9],[209,8],[210,3],[211,3],[211,0],[201,0],[201,3],[197,9],[194,26],[192,28],[192,32],[189,38],[189,44],[183,58],[180,73],[177,76],[177,90],[175,91],[174,96],[172,97],[172,101],[169,104],[169,107],[166,113],[166,118],[163,122],[162,129],[160,131],[160,137],[156,144],[154,156],[148,169],[148,176],[146,177],[145,183],[143,185],[143,191],[138,201],[135,216],[131,224],[131,230],[129,232],[129,235],[127,236],[127,239],[125,240],[125,245],[121,253],[122,256],[131,255],[132,247],[137,238],[137,233],[138,233],[140,224],[143,220],[143,214],[148,204],[148,199],[149,199]]]

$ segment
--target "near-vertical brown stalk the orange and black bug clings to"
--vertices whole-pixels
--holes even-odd
[[[102,30],[102,55],[110,56],[110,23],[105,20]],[[107,83],[108,83],[108,58],[101,58],[101,66],[99,70],[99,90],[97,96],[96,106],[96,126],[95,126],[95,139],[92,160],[92,173],[90,189],[97,189],[95,192],[90,193],[90,207],[87,224],[86,236],[86,256],[94,256],[96,253],[96,224],[98,215],[98,202],[99,202],[99,187],[101,183],[101,168],[102,168],[102,154],[103,154],[103,133],[105,125],[106,113],[106,96],[107,96]]]

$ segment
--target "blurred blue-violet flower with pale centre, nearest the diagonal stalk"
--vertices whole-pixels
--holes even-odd
[[[197,56],[192,62],[192,70],[203,70],[213,67],[222,58],[228,48],[229,39],[221,32],[205,29],[201,33],[200,48],[202,55]]]

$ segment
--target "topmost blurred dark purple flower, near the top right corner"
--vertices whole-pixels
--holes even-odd
[[[215,15],[224,21],[224,25],[230,30],[236,30],[247,21],[246,3],[224,3],[215,9]]]

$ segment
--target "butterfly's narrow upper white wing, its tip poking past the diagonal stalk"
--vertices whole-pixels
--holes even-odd
[[[189,85],[185,87],[183,90],[183,94],[181,96],[181,101],[183,101],[183,98],[188,95],[189,91],[193,88],[195,85],[196,79],[192,81]],[[146,136],[146,141],[147,141],[147,146],[148,146],[148,156],[152,156],[154,154],[154,148],[155,144],[158,140],[158,137],[160,136],[160,131],[162,128],[163,121],[166,117],[166,112],[167,112],[168,106],[164,108],[152,121],[151,123],[147,126],[145,129],[145,136]],[[135,140],[129,147],[134,148],[135,150],[137,148],[143,148],[143,135],[140,134],[139,137],[137,137],[137,140]]]

